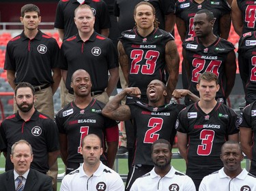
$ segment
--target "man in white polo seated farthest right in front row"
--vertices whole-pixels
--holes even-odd
[[[243,159],[242,148],[238,142],[225,142],[221,147],[221,160],[224,167],[203,177],[199,191],[256,190],[256,177],[241,168]]]

